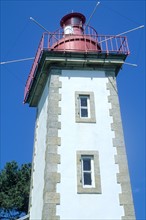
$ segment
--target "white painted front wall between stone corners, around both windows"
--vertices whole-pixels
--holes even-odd
[[[61,183],[57,184],[60,205],[57,215],[61,220],[117,220],[124,214],[119,205],[120,185],[116,181],[118,166],[114,162],[116,149],[112,146],[114,132],[110,124],[109,91],[104,72],[63,70],[61,121]],[[96,124],[75,122],[75,91],[94,92]],[[76,152],[98,150],[102,194],[77,194]]]

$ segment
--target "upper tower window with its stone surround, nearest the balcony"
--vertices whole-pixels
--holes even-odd
[[[93,92],[75,92],[76,122],[95,123]]]

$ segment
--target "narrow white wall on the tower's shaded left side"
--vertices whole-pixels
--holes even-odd
[[[42,97],[38,104],[37,128],[34,140],[34,172],[32,188],[32,207],[30,208],[30,220],[40,220],[43,209],[44,169],[46,151],[46,126],[48,107],[48,82],[46,83]]]

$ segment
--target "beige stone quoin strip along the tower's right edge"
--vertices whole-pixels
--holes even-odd
[[[107,89],[110,92],[108,101],[111,103],[109,113],[113,118],[111,129],[115,133],[115,137],[113,138],[113,147],[116,148],[117,151],[114,157],[115,163],[119,167],[119,172],[116,174],[117,183],[120,184],[122,190],[119,194],[120,205],[124,208],[124,216],[122,216],[122,220],[135,220],[116,80],[113,77],[114,74],[110,71],[106,72],[106,76],[108,77]]]

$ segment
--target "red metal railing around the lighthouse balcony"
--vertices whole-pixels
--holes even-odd
[[[82,49],[69,49],[66,48],[66,39],[69,43],[73,41],[80,41],[84,40],[84,48]],[[60,47],[57,47],[58,43],[61,41],[61,44],[63,45],[63,48],[60,49]],[[88,41],[88,46],[86,42]],[[93,42],[98,46],[92,47]],[[55,47],[56,46],[56,47]],[[100,50],[99,50],[100,47]],[[111,35],[98,35],[97,32],[94,30],[94,28],[90,26],[86,26],[83,31],[83,35],[68,35],[67,38],[64,36],[63,29],[58,29],[56,32],[50,34],[50,33],[44,33],[39,46],[38,50],[36,52],[36,56],[32,65],[32,68],[30,70],[30,74],[28,76],[25,91],[24,91],[24,103],[27,100],[27,97],[29,95],[29,90],[32,86],[33,79],[36,74],[36,70],[39,64],[39,61],[41,59],[41,55],[43,51],[71,51],[71,52],[97,52],[101,54],[125,54],[128,55],[129,48],[128,48],[128,42],[127,38],[123,36],[111,36]]]

